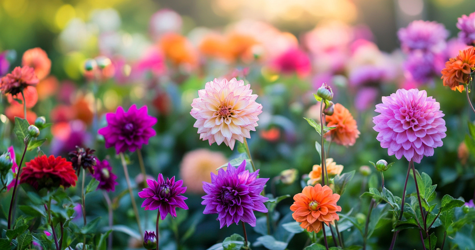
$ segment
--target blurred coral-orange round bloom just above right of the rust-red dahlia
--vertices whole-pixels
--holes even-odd
[[[51,60],[41,48],[30,48],[25,51],[21,58],[21,65],[34,68],[35,74],[40,80],[47,77],[51,70]]]

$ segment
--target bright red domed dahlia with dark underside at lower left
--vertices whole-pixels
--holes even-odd
[[[76,186],[77,176],[73,165],[66,158],[54,155],[35,157],[25,163],[20,174],[20,183],[28,183],[37,190],[44,187],[55,189],[59,186],[68,188]]]

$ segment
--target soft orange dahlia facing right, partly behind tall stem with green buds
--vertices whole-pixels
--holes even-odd
[[[336,127],[325,134],[325,139],[333,140],[336,144],[352,146],[356,138],[360,137],[360,131],[350,111],[343,105],[335,104],[333,115],[326,115],[325,121],[328,127]]]

